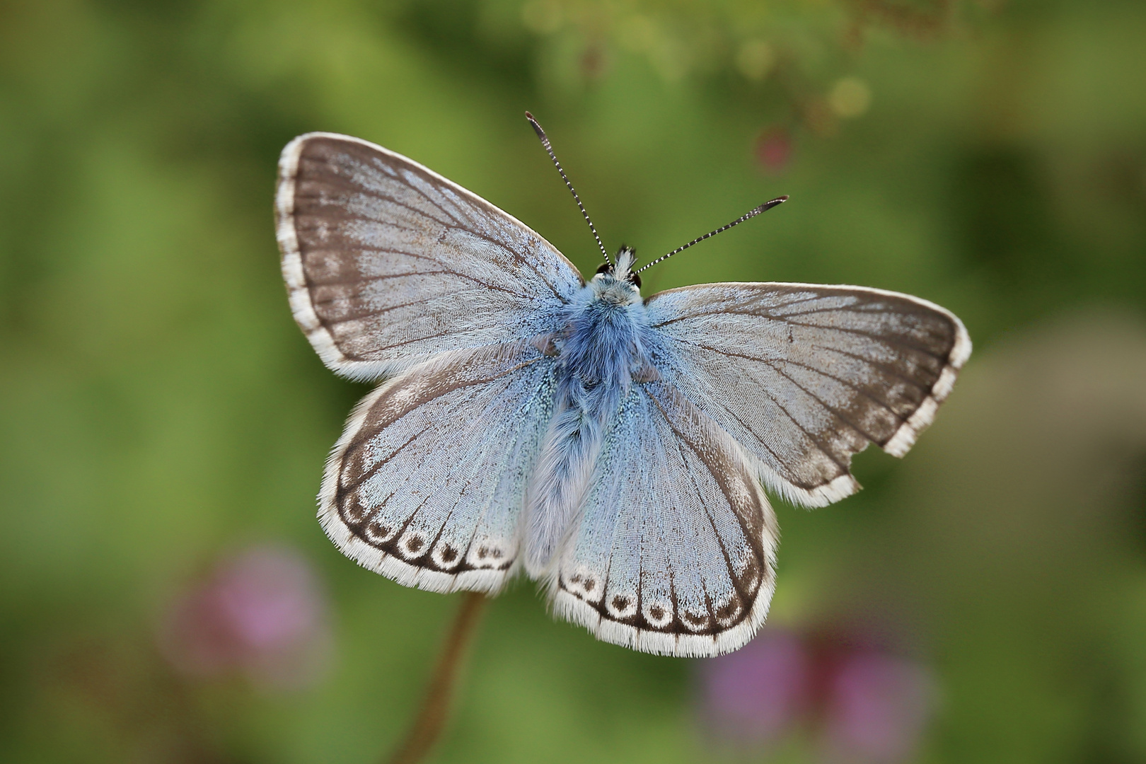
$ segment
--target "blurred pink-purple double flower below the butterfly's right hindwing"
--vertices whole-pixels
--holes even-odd
[[[769,629],[700,670],[700,717],[714,740],[768,748],[802,735],[832,764],[909,761],[934,709],[924,665],[839,636]]]

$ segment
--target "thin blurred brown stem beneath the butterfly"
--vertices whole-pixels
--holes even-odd
[[[422,703],[422,709],[414,719],[409,732],[406,733],[406,739],[387,759],[390,764],[421,762],[433,748],[446,726],[457,671],[465,657],[465,648],[477,631],[476,627],[481,619],[481,611],[485,609],[488,601],[485,594],[476,591],[468,591],[462,597],[462,605],[454,617],[454,625],[450,628],[446,644],[438,656],[433,676],[430,677],[430,687]]]

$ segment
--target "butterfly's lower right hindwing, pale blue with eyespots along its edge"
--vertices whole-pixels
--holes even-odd
[[[634,385],[596,470],[560,552],[557,613],[661,655],[719,655],[752,639],[778,536],[732,439],[672,387]]]

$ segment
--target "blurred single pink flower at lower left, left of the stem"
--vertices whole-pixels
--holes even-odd
[[[172,602],[159,646],[189,676],[243,672],[264,685],[305,685],[330,646],[325,601],[298,552],[252,546]]]

